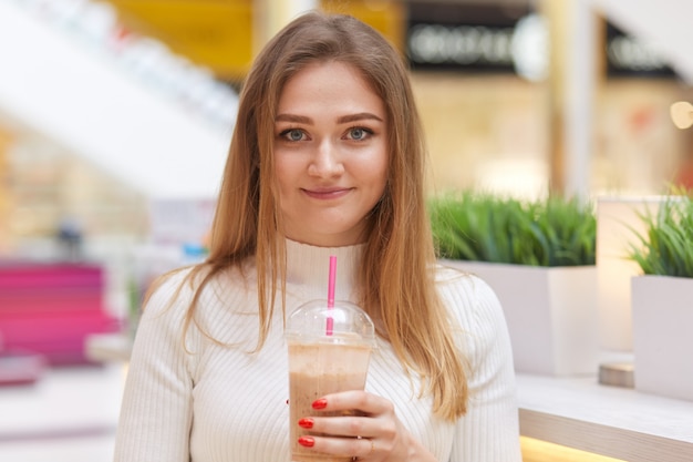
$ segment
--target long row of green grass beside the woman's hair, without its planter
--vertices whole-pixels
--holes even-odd
[[[597,220],[589,203],[519,201],[465,191],[431,201],[442,258],[542,267],[592,266]]]

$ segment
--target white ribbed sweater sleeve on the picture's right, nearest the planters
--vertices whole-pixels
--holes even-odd
[[[458,275],[443,297],[461,324],[468,361],[467,413],[455,427],[449,462],[519,462],[510,338],[498,298],[482,279]]]

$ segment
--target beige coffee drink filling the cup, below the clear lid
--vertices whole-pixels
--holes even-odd
[[[338,456],[303,448],[298,443],[302,435],[318,433],[298,425],[301,418],[334,415],[312,409],[318,398],[346,390],[363,390],[369,368],[371,346],[363,342],[350,345],[353,338],[339,337],[330,342],[289,342],[289,408],[292,462],[350,462],[351,455]],[[353,414],[353,412],[349,412]]]

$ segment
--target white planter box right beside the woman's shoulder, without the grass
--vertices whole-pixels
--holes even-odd
[[[495,290],[513,342],[515,370],[596,374],[599,316],[594,266],[531,267],[441,260],[473,273]]]

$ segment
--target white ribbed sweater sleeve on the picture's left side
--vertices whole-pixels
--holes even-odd
[[[183,347],[189,297],[180,275],[149,298],[135,337],[118,428],[115,462],[188,462],[193,380]]]

